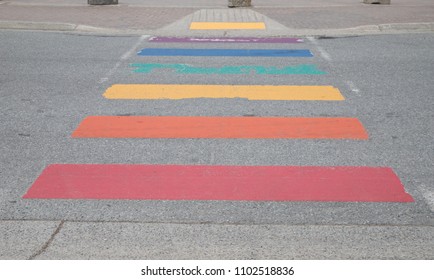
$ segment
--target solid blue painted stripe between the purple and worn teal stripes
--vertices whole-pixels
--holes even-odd
[[[309,50],[258,50],[258,49],[143,49],[141,56],[262,56],[262,57],[312,57]]]

